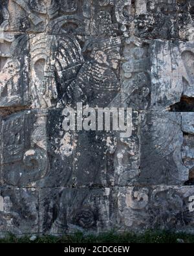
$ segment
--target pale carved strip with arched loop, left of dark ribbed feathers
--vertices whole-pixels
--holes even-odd
[[[54,60],[50,56],[50,42],[54,38],[40,34],[32,36],[30,39],[31,58],[31,86],[30,95],[32,107],[47,108],[52,107],[52,102],[56,100],[57,88],[54,78]],[[44,50],[43,50],[44,49]]]

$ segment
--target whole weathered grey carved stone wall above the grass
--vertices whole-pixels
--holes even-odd
[[[193,13],[191,0],[1,1],[0,235],[193,232]],[[132,108],[131,136],[65,132],[79,102]]]

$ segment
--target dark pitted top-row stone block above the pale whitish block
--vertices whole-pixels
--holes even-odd
[[[135,1],[135,36],[178,39],[177,0],[137,0]]]

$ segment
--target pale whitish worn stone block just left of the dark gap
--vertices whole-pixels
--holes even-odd
[[[180,101],[183,91],[178,42],[154,41],[151,46],[151,108],[165,109]]]

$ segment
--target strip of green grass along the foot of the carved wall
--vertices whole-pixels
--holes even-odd
[[[167,231],[146,231],[144,234],[114,232],[103,233],[102,235],[83,235],[75,233],[74,235],[63,235],[63,237],[41,236],[34,242],[30,237],[17,238],[9,234],[5,239],[0,239],[0,243],[177,243],[177,239],[182,239],[186,243],[194,243],[194,235],[185,233],[170,233]]]

